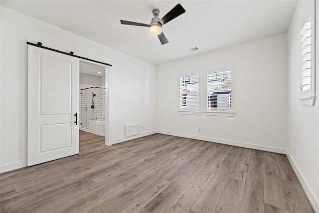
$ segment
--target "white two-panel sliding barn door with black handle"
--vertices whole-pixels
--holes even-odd
[[[27,165],[79,153],[79,59],[28,45]]]

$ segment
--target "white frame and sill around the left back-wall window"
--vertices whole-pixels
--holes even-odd
[[[180,77],[187,76],[187,75],[198,75],[198,108],[197,109],[182,109],[180,108]],[[202,108],[201,108],[201,72],[200,71],[188,71],[188,72],[180,72],[178,73],[178,105],[177,105],[177,113],[180,115],[201,115]]]

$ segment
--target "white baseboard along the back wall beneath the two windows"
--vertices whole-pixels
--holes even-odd
[[[249,144],[249,143],[243,143],[243,142],[237,142],[237,141],[229,141],[229,140],[223,140],[223,139],[217,139],[217,138],[209,138],[209,137],[203,137],[198,135],[188,135],[188,134],[181,134],[181,133],[175,133],[175,132],[167,132],[167,131],[157,131],[160,134],[164,135],[172,135],[172,136],[178,136],[183,138],[191,138],[196,140],[202,140],[202,141],[209,141],[209,142],[215,142],[220,144],[227,144],[231,146],[238,146],[238,147],[245,147],[249,149],[256,149],[256,150],[262,150],[267,152],[275,152],[280,154],[286,154],[286,149],[278,148],[278,147],[270,147],[270,146],[263,146],[263,145],[256,145],[256,144]]]

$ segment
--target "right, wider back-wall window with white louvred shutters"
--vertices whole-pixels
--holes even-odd
[[[232,75],[232,68],[207,70],[205,115],[235,115]]]

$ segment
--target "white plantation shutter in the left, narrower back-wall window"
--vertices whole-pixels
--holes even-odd
[[[180,109],[199,109],[198,78],[198,74],[180,77]]]

